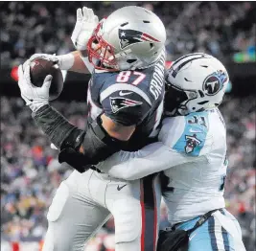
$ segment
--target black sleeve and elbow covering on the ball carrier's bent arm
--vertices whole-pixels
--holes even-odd
[[[49,104],[36,110],[33,117],[50,141],[61,150],[59,161],[73,164],[71,166],[75,165],[80,171],[81,166],[96,165],[126,145],[126,142],[110,137],[99,119],[83,131],[71,125]],[[76,158],[80,159],[80,164]]]

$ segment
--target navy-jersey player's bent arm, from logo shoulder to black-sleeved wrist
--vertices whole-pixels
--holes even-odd
[[[126,146],[136,125],[151,110],[151,101],[144,92],[126,83],[110,85],[102,92],[101,103],[104,114],[88,124],[86,131],[71,125],[49,104],[33,113],[35,123],[61,150],[60,162],[77,170],[85,164],[98,164]]]

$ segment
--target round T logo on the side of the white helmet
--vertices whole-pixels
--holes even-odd
[[[224,86],[227,76],[222,71],[217,71],[203,81],[203,91],[208,96],[217,94]]]

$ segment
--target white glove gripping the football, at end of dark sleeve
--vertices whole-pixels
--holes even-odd
[[[36,87],[31,82],[30,65],[19,65],[18,67],[18,86],[20,89],[21,97],[28,106],[37,111],[40,107],[49,103],[49,89],[53,77],[47,75],[41,87]]]

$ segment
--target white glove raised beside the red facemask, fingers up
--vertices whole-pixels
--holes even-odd
[[[79,51],[86,50],[86,45],[94,29],[99,23],[99,18],[92,9],[86,7],[77,10],[77,22],[71,40]]]

